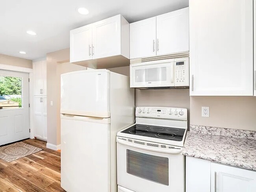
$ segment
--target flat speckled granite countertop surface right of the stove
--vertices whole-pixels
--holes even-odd
[[[183,155],[256,171],[256,140],[187,132]]]

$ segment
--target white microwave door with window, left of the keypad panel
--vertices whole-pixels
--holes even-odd
[[[174,87],[174,59],[130,65],[130,87]]]

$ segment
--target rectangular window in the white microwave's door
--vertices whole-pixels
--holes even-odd
[[[135,82],[166,81],[166,67],[135,70]]]

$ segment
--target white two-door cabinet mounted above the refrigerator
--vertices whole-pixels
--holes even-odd
[[[129,23],[116,15],[70,31],[70,62],[90,68],[129,65]]]

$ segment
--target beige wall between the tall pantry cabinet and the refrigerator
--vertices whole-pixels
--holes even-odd
[[[60,74],[79,69],[69,61],[69,48],[48,53],[47,60],[47,142],[54,145],[60,144]],[[50,106],[50,101],[53,106]]]

